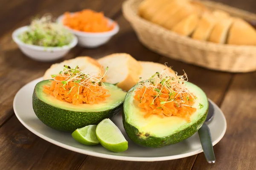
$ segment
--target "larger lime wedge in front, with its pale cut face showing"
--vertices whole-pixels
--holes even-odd
[[[112,152],[123,152],[128,149],[128,142],[119,128],[110,120],[103,119],[96,127],[99,143]]]

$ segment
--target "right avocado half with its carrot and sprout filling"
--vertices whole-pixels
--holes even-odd
[[[187,81],[157,72],[125,96],[123,124],[129,138],[146,147],[163,147],[192,136],[204,123],[208,99]]]

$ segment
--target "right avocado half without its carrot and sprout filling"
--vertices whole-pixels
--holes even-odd
[[[123,125],[129,138],[137,144],[146,147],[163,147],[181,142],[192,136],[203,125],[208,113],[208,99],[204,91],[198,86],[185,82],[186,88],[194,92],[197,97],[191,116],[191,122],[178,116],[160,118],[152,115],[144,118],[144,112],[138,107],[139,102],[134,99],[136,87],[131,88],[125,96]]]

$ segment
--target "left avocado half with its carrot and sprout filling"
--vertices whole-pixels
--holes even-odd
[[[32,104],[36,116],[53,129],[69,132],[115,116],[126,93],[102,82],[105,74],[93,76],[78,66],[64,65],[53,79],[35,86]]]

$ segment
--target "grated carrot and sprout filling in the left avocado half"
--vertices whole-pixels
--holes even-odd
[[[72,69],[64,65],[63,71],[52,75],[52,83],[50,86],[44,86],[44,92],[74,105],[99,103],[110,96],[101,82],[104,76],[105,74],[99,77],[91,76],[79,70],[78,66]]]

